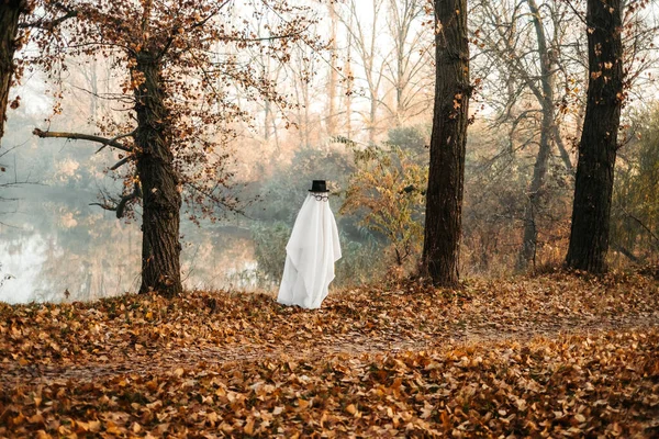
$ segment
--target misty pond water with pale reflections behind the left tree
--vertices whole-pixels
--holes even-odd
[[[0,236],[0,278],[8,277],[0,286],[0,301],[90,301],[139,289],[137,224],[119,222],[93,207],[71,211],[59,205],[55,211],[48,233],[25,224]],[[263,286],[247,233],[241,236],[227,234],[226,226],[192,224],[183,229],[188,232],[181,255],[186,289]]]

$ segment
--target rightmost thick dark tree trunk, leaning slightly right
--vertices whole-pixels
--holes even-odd
[[[623,103],[621,0],[588,0],[589,85],[566,264],[606,270],[613,176]]]

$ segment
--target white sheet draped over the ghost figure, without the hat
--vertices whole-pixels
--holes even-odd
[[[319,308],[334,279],[334,263],[340,259],[338,229],[328,202],[306,195],[286,255],[277,302]]]

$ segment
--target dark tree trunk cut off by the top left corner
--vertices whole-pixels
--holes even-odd
[[[25,0],[0,0],[0,139],[4,135],[9,88],[14,71],[19,19],[25,7]]]

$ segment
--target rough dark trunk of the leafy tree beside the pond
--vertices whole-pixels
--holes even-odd
[[[181,194],[170,149],[170,120],[165,106],[161,65],[148,53],[137,56],[134,72],[145,82],[135,90],[138,148],[137,173],[142,182],[142,286],[165,296],[182,292],[179,222]]]

